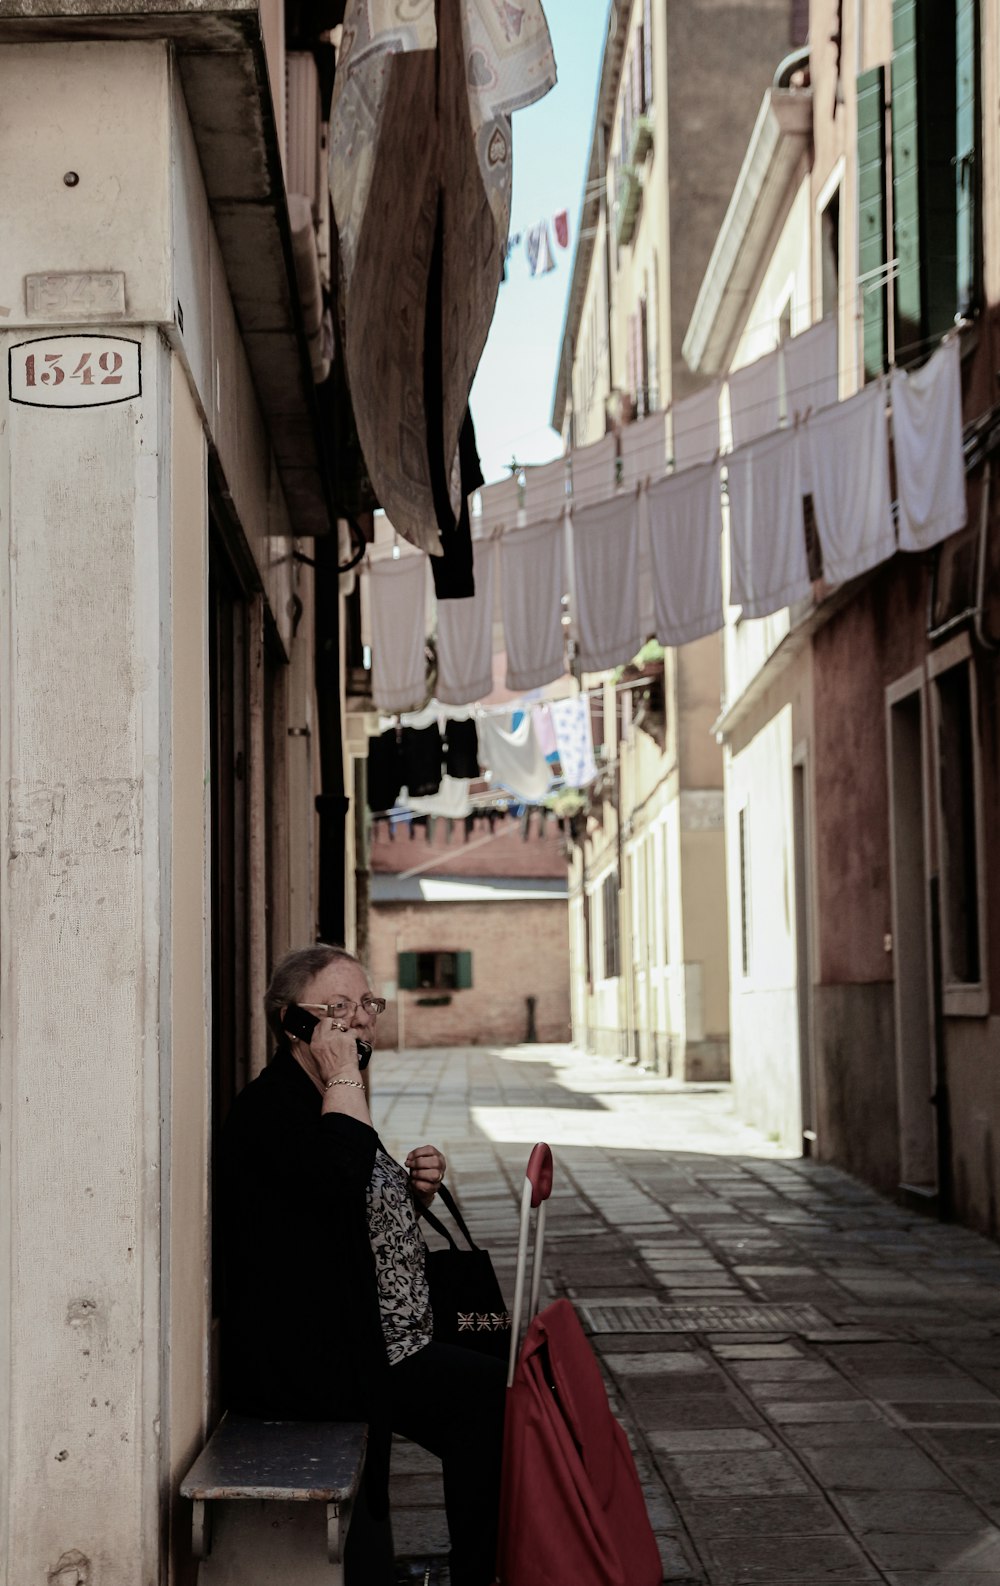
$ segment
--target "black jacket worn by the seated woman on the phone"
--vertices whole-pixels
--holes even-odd
[[[222,1132],[222,1393],[242,1415],[368,1421],[368,1492],[387,1505],[388,1361],[366,1190],[376,1131],[323,1113],[287,1047]]]

